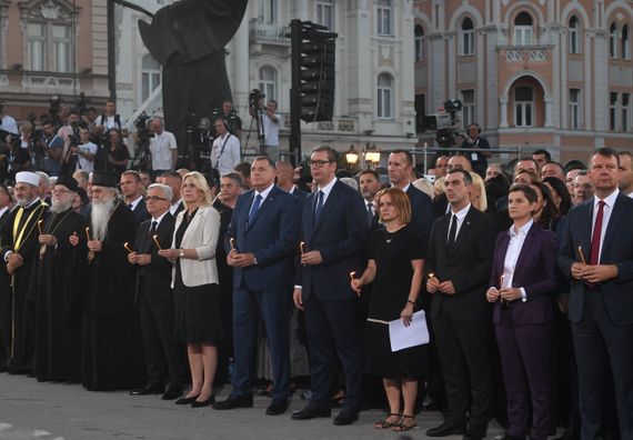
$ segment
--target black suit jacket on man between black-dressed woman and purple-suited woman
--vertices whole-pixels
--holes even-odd
[[[433,293],[431,318],[448,313],[454,321],[490,320],[485,289],[492,269],[494,227],[490,217],[471,207],[455,239],[454,251],[448,254],[446,241],[451,213],[433,223],[424,272],[442,281],[451,280],[455,294]]]

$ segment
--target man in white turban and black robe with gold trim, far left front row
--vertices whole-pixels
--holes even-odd
[[[8,353],[9,372],[27,373],[33,357],[33,316],[27,302],[33,281],[31,268],[38,254],[38,222],[48,214],[46,203],[38,198],[40,177],[22,171],[16,174],[14,196],[18,208],[2,228],[2,257],[10,279],[2,289],[2,308],[7,310],[2,329]]]

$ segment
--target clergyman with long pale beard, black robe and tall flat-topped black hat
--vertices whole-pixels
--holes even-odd
[[[134,242],[137,222],[132,211],[117,200],[115,187],[114,173],[92,174],[81,344],[82,382],[89,390],[134,388],[143,383],[144,376],[134,319],[134,268],[128,263],[124,247]],[[71,243],[77,246],[79,240],[73,234]]]

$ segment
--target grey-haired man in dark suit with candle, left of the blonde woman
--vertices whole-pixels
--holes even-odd
[[[135,302],[148,371],[147,384],[131,390],[130,394],[159,394],[164,390],[164,379],[169,378],[163,400],[173,400],[182,394],[188,373],[173,340],[172,264],[158,254],[159,244],[161,248],[170,247],[173,237],[174,220],[169,213],[171,196],[171,188],[165,184],[150,186],[145,200],[151,218],[139,226],[134,251],[128,256],[130,263],[139,266]]]

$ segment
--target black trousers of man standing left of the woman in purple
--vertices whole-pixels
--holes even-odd
[[[433,328],[446,388],[446,420],[462,422],[472,396],[470,427],[485,427],[492,412],[490,324],[455,322],[446,313],[441,313],[433,319]]]

